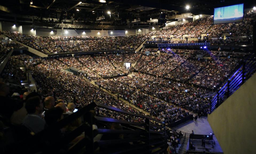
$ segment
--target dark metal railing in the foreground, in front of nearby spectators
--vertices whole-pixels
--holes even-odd
[[[118,120],[115,118],[97,116],[91,112],[91,110],[97,110],[98,108],[121,113],[124,116],[141,118],[144,119],[144,121],[130,122]],[[65,128],[77,118],[83,120],[80,126],[76,127],[71,132],[61,133],[61,136],[58,135],[60,129]],[[95,123],[97,123],[98,129],[93,130]],[[100,123],[105,124],[106,127],[99,127],[98,124]],[[123,129],[111,129],[111,127],[110,129],[106,129],[109,124],[114,123],[121,124]],[[160,129],[161,131],[156,131],[156,129]],[[60,150],[62,152],[64,150],[64,153],[94,153],[97,149],[99,149],[100,153],[161,153],[165,152],[168,147],[165,130],[166,127],[164,123],[151,117],[93,102],[47,127],[38,134],[30,135],[17,143],[8,145],[7,147],[10,148],[6,150],[9,153],[16,153],[17,151],[22,151],[22,153],[44,153],[49,151],[57,152]],[[94,141],[98,134],[102,134],[105,138]],[[123,135],[123,138],[118,137],[120,135]],[[70,143],[77,138],[79,138],[79,140],[70,146]]]

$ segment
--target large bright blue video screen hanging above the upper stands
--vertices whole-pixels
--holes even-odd
[[[243,21],[243,4],[214,8],[213,24]]]

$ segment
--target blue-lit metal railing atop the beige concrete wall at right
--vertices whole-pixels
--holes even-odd
[[[210,113],[232,95],[256,71],[255,55],[249,56],[211,101]]]

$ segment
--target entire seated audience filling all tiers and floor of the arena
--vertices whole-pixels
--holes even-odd
[[[255,11],[249,11],[245,13],[244,21],[241,23],[218,25],[212,25],[212,16],[200,17],[192,23],[150,32],[147,37],[156,36],[156,39],[165,38],[169,43],[183,43],[195,40],[187,41],[183,38],[169,41],[169,38],[182,38],[185,34],[187,34],[187,38],[197,38],[201,34],[207,33],[207,38],[217,37],[209,39],[212,45],[251,45],[252,28],[250,23],[255,17]],[[131,50],[137,49],[146,38],[144,34],[124,37],[39,37],[22,35],[18,32],[2,33],[45,54],[92,50]],[[247,36],[247,38],[227,37],[223,39],[221,37],[224,33],[230,33],[231,37]],[[11,49],[23,47],[12,41],[5,42],[0,41],[1,55],[8,54]],[[145,51],[150,51],[150,54],[144,54]],[[32,134],[37,134],[64,116],[72,114],[75,107],[83,107],[92,102],[99,102],[136,114],[142,114],[139,110],[144,110],[165,124],[171,124],[189,116],[191,112],[200,115],[206,114],[209,113],[211,100],[216,94],[213,90],[207,89],[223,86],[235,68],[250,54],[168,48],[162,49],[161,52],[164,54],[159,55],[154,53],[156,51],[158,49],[143,49],[142,52],[66,55],[35,59],[25,54],[11,56],[0,79],[2,101],[0,116],[1,122],[4,121],[1,123],[1,129],[6,128],[6,124],[10,123],[11,126],[22,125]],[[134,68],[127,69],[124,66],[125,62],[136,62],[136,65]],[[22,89],[14,90],[12,91],[14,93],[10,94],[11,80],[19,81],[19,83],[22,80],[27,80],[27,74],[21,70],[21,66],[25,66],[26,70],[32,73],[36,81],[37,92]],[[68,68],[75,68],[83,74],[67,73],[68,71],[65,70]],[[138,73],[117,76],[118,74],[127,75],[131,70],[136,70]],[[109,79],[109,76],[117,77]],[[91,84],[91,80],[94,80],[98,87]],[[106,93],[101,87],[110,91],[117,98]],[[133,105],[139,109],[133,108]],[[92,112],[98,112],[97,114],[100,116],[117,120],[145,122],[143,118],[100,107]],[[79,125],[81,125],[81,121],[78,120],[75,126],[70,124],[65,129],[59,130],[59,133],[74,130]],[[121,125],[111,124],[111,126],[119,127]],[[169,150],[173,153],[177,152],[175,148],[178,147],[182,134],[170,131],[170,133],[167,132],[167,135]],[[15,137],[9,140],[13,138]]]

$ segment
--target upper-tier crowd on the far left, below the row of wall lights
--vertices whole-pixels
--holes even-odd
[[[34,36],[19,32],[2,32],[5,36],[15,39],[45,54],[59,52],[95,51],[95,50],[133,50],[144,41],[145,34],[130,36]]]

